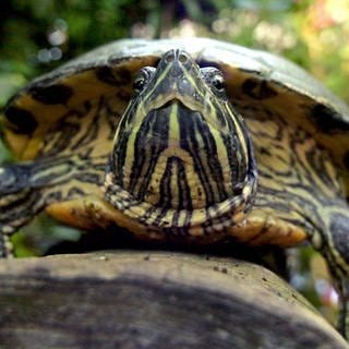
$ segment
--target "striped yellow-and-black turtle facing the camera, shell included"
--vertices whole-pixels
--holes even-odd
[[[0,255],[39,212],[139,239],[326,258],[349,336],[349,109],[294,63],[210,38],[120,39],[4,109]]]

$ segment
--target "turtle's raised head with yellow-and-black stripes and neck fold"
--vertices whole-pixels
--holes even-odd
[[[221,72],[173,49],[143,68],[133,88],[116,130],[106,200],[152,229],[198,233],[240,221],[255,195],[256,166]]]

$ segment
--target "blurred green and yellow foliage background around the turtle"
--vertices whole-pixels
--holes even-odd
[[[34,76],[98,45],[124,37],[184,36],[285,56],[349,103],[348,0],[8,0],[0,4],[0,107]],[[0,143],[0,163],[11,160]],[[43,217],[14,240],[20,254],[28,255],[79,237]],[[303,249],[294,261],[301,273],[293,284],[320,306],[329,304],[325,311],[333,313],[336,297],[317,255]],[[313,284],[316,292],[310,291]]]

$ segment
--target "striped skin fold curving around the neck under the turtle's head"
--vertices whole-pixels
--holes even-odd
[[[254,173],[256,174],[256,173]],[[250,178],[254,183],[255,178]],[[113,220],[137,237],[149,240],[179,239],[210,243],[227,236],[231,227],[242,222],[254,202],[256,185],[245,185],[240,195],[204,208],[173,209],[139,201],[116,184],[108,172],[105,200],[116,209]]]

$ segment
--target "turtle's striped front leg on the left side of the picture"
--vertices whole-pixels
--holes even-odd
[[[100,191],[106,159],[75,154],[0,167],[0,256],[11,255],[8,237],[43,209]]]

